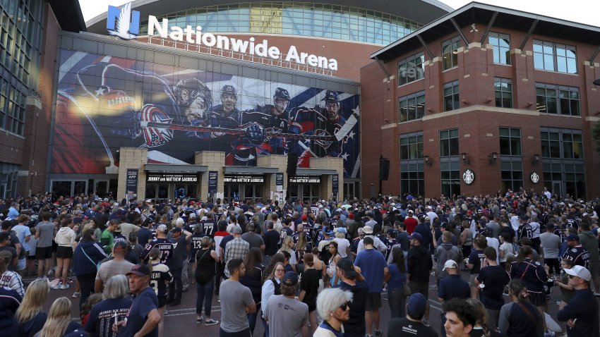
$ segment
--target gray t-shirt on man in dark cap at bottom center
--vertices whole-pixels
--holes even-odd
[[[270,336],[301,337],[302,326],[308,325],[308,305],[295,298],[272,295],[265,319],[269,321]]]

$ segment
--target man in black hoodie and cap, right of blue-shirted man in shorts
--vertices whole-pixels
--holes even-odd
[[[428,246],[423,244],[423,236],[419,233],[412,233],[412,247],[408,251],[408,274],[411,293],[421,293],[425,298],[429,298],[429,272],[433,268],[433,260],[428,250]],[[429,302],[424,315],[424,322],[429,321]],[[427,323],[428,324],[428,323]]]

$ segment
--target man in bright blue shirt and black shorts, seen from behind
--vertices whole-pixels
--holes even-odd
[[[366,236],[363,243],[365,249],[356,255],[354,265],[361,269],[368,285],[365,307],[366,334],[371,336],[373,332],[371,324],[374,324],[375,336],[383,336],[379,328],[379,308],[381,307],[383,276],[388,274],[388,264],[385,262],[383,254],[373,248],[373,238],[371,236]]]

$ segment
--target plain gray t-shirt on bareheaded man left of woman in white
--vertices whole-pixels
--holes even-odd
[[[221,300],[221,329],[234,333],[250,328],[246,307],[254,304],[250,288],[225,280],[219,288]],[[277,335],[273,335],[277,336]]]

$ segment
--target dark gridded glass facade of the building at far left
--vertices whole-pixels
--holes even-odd
[[[23,135],[25,105],[37,87],[43,1],[0,1],[0,129]]]

